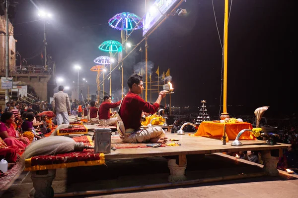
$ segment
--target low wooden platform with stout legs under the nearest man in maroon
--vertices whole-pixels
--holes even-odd
[[[219,152],[233,152],[233,151],[247,151],[247,150],[261,150],[262,152],[262,160],[264,162],[263,172],[262,174],[254,175],[262,176],[264,174],[277,176],[279,171],[277,170],[277,162],[279,157],[272,156],[270,150],[279,150],[279,155],[282,155],[282,149],[287,148],[288,144],[277,144],[274,146],[265,145],[263,141],[241,141],[243,146],[234,147],[231,146],[232,141],[223,145],[223,142],[216,139],[197,137],[197,136],[189,136],[189,135],[177,135],[177,134],[167,134],[169,139],[178,139],[181,146],[178,147],[158,147],[158,148],[119,148],[116,150],[111,150],[111,153],[105,154],[105,159],[115,159],[116,161],[120,158],[138,158],[138,157],[154,157],[154,156],[168,156],[167,164],[170,170],[170,174],[168,176],[168,186],[178,186],[187,184],[196,184],[200,182],[200,179],[188,180],[185,176],[185,169],[187,164],[186,155],[190,154],[208,154],[208,153],[219,153]],[[172,156],[176,155],[178,157]],[[171,157],[170,157],[171,156]],[[88,167],[86,167],[88,168]],[[33,171],[31,175],[31,179],[33,182],[34,189],[29,193],[29,197],[33,197],[33,194],[36,196],[43,196],[45,198],[54,197],[54,192],[51,187],[52,181],[56,176],[56,169],[51,170],[43,170],[43,171]],[[234,177],[230,177],[234,178]],[[237,177],[238,178],[238,177]],[[216,180],[210,180],[216,181]],[[163,188],[165,185],[160,186]],[[146,187],[147,188],[147,187]],[[146,189],[143,186],[140,186],[139,190]],[[149,187],[148,187],[149,188]],[[123,191],[123,189],[122,189]],[[121,189],[119,192],[122,192]],[[50,194],[45,194],[48,192],[52,192]],[[111,189],[107,189],[104,191],[93,191],[93,194],[96,193],[109,193],[112,192]],[[85,192],[74,192],[68,193],[67,195],[74,196],[79,194],[84,194]],[[58,197],[64,197],[57,195]]]

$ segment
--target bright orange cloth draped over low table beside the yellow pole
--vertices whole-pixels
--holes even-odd
[[[236,136],[242,129],[252,129],[250,123],[219,123],[219,122],[202,122],[195,133],[195,136],[202,136],[207,138],[223,139],[224,125],[226,133],[226,141],[235,140]],[[244,132],[239,140],[256,140],[251,132]]]

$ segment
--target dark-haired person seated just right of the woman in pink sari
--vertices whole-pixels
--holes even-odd
[[[21,125],[22,131],[24,132],[23,136],[27,137],[30,143],[42,138],[35,134],[35,129],[33,127],[33,119],[34,119],[34,113],[29,112],[27,113],[26,118]],[[32,134],[33,134],[33,137],[32,137]]]

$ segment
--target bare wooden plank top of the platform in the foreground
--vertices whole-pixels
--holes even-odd
[[[159,148],[121,148],[111,150],[111,153],[105,154],[106,159],[115,158],[134,158],[134,157],[152,157],[169,156],[183,154],[208,154],[214,152],[236,152],[246,150],[272,150],[287,148],[288,144],[277,144],[274,146],[265,145],[263,141],[241,141],[242,147],[231,146],[233,141],[223,145],[221,140],[204,138],[199,136],[167,134],[169,139],[178,139],[179,147],[159,147]]]

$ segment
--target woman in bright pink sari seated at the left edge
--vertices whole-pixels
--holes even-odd
[[[0,138],[7,146],[17,146],[20,150],[24,150],[30,141],[26,137],[19,137],[12,124],[14,123],[14,115],[10,112],[5,112],[1,115],[0,121]],[[20,125],[21,122],[17,122],[17,126]]]

